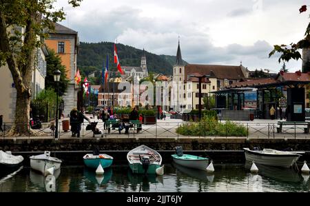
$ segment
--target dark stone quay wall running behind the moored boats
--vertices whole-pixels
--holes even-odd
[[[102,153],[114,157],[114,163],[127,163],[126,154],[138,145],[147,145],[161,152],[163,163],[172,161],[174,147],[182,145],[186,154],[207,156],[214,163],[244,163],[243,147],[271,148],[295,151],[310,151],[310,140],[307,139],[247,139],[247,138],[60,138],[54,139],[5,139],[0,140],[0,150],[12,151],[23,155],[25,159],[34,154],[48,150],[52,156],[64,160],[63,165],[83,165],[83,156],[92,153],[94,145],[98,145]],[[300,161],[310,161],[310,152],[306,152]],[[28,165],[29,161],[25,161]]]

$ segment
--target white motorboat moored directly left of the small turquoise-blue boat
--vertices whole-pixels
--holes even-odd
[[[62,161],[59,158],[50,156],[49,151],[44,154],[30,156],[30,167],[41,172],[44,175],[54,173],[54,170],[61,167]]]

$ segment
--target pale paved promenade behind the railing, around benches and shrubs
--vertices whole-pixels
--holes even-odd
[[[90,115],[87,115],[91,117]],[[68,120],[65,119],[65,120]],[[76,138],[71,136],[70,130],[68,132],[63,131],[62,123],[63,119],[59,120],[59,138]],[[180,119],[170,119],[167,117],[165,120],[158,120],[154,125],[143,125],[142,131],[138,132],[134,129],[129,131],[129,134],[124,134],[125,130],[121,131],[121,134],[118,133],[118,128],[116,130],[110,130],[110,134],[107,130],[103,130],[103,122],[99,119],[91,119],[91,121],[98,121],[97,127],[103,132],[103,138],[296,138],[296,139],[308,139],[310,134],[305,134],[304,129],[301,127],[291,127],[283,128],[282,133],[277,133],[276,127],[277,123],[280,120],[261,120],[256,119],[254,121],[236,121],[236,123],[243,125],[249,131],[247,136],[183,136],[176,133],[176,128],[185,123]],[[284,120],[283,120],[284,121]],[[225,123],[225,121],[222,121]],[[80,138],[94,138],[92,131],[85,130],[86,125],[88,124],[85,121],[82,125],[81,137]],[[48,123],[43,125],[43,128],[39,130],[42,133],[42,136],[17,136],[11,137],[6,136],[5,133],[2,133],[0,139],[10,139],[10,138],[54,138],[52,131],[49,128]],[[101,135],[96,135],[95,138],[101,138]]]

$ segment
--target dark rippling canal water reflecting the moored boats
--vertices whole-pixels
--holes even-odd
[[[309,192],[309,176],[290,169],[251,165],[214,165],[214,175],[174,164],[165,165],[163,176],[143,176],[130,172],[127,165],[105,169],[105,175],[83,166],[61,167],[48,180],[30,167],[0,173],[0,192]],[[55,184],[52,184],[54,181]]]

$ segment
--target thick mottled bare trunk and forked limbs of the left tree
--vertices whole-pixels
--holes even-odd
[[[1,11],[0,20],[0,48],[2,51],[9,52],[10,41],[8,34],[6,33],[6,23]],[[38,134],[37,132],[33,132],[29,126],[31,82],[37,38],[34,34],[34,23],[36,20],[37,13],[33,12],[30,14],[30,19],[28,19],[27,24],[25,25],[25,39],[21,46],[21,53],[18,54],[23,55],[24,59],[18,61],[18,56],[12,52],[6,59],[17,90],[14,125],[8,132],[8,136],[28,136]]]

